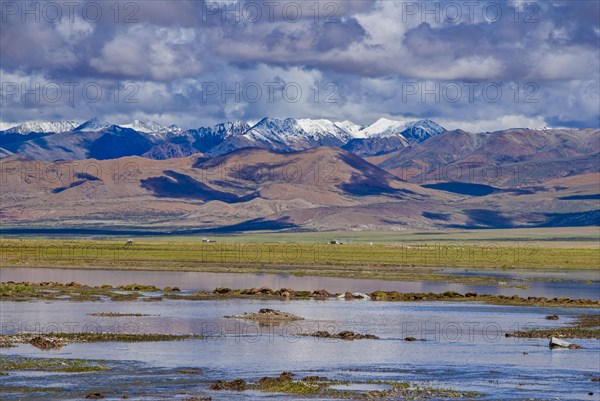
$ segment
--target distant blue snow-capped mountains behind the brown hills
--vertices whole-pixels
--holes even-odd
[[[195,153],[219,156],[247,147],[291,152],[346,146],[361,156],[371,156],[405,148],[443,131],[430,120],[385,118],[367,127],[349,121],[264,118],[252,126],[235,121],[188,130],[139,120],[119,126],[94,118],[81,124],[33,123],[0,131],[0,148],[44,161],[120,156],[167,159]]]

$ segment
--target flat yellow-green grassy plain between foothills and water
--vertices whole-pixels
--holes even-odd
[[[260,272],[482,282],[452,270],[598,270],[597,227],[236,236],[3,238],[2,267]],[[343,244],[333,245],[338,240]]]

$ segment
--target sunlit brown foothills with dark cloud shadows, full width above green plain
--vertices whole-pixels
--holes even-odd
[[[0,171],[5,232],[402,230],[599,220],[598,174],[519,188],[482,185],[469,193],[472,187],[406,182],[331,147],[283,154],[241,149],[212,159],[48,163],[10,156],[0,160]]]

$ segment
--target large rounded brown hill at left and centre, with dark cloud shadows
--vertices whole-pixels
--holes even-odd
[[[328,147],[287,154],[243,149],[214,159],[46,163],[11,156],[0,163],[4,228],[298,228],[332,208],[345,213],[382,203],[406,205],[406,210],[413,204],[439,208],[457,198],[403,182],[358,156]],[[354,216],[352,224],[381,223],[380,217],[373,218],[379,214],[371,208]],[[330,221],[320,228],[346,224]],[[420,214],[411,224],[431,226]]]

